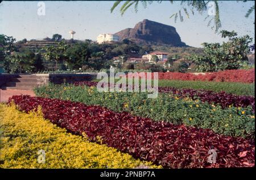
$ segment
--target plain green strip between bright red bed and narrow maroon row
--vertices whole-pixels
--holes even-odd
[[[237,95],[255,95],[255,83],[159,80],[158,86],[175,87],[177,89],[204,89],[216,92],[225,91]]]

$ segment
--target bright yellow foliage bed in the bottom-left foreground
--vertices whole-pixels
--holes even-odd
[[[72,135],[44,119],[40,112],[26,114],[14,105],[0,104],[0,121],[0,168],[159,168]]]

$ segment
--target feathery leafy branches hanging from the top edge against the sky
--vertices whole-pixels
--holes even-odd
[[[120,12],[121,12],[121,15],[123,15],[125,11],[129,9],[129,7],[131,7],[132,5],[134,5],[135,12],[138,12],[139,2],[141,2],[142,6],[146,8],[148,5],[151,5],[154,1],[115,1],[110,11],[113,12],[114,9],[121,2],[123,2],[123,5],[120,8]],[[162,1],[157,1],[157,2],[162,3]],[[169,2],[172,5],[174,4],[175,1],[169,1]],[[243,1],[243,2],[247,2],[247,1]],[[174,17],[175,23],[178,17],[180,19],[180,22],[183,22],[184,18],[182,14],[185,14],[185,16],[189,18],[189,12],[192,15],[195,14],[195,11],[199,12],[199,14],[203,14],[203,12],[207,11],[208,6],[213,6],[216,14],[213,16],[213,18],[209,19],[208,26],[212,24],[212,29],[215,28],[216,32],[219,30],[219,28],[221,28],[220,11],[219,11],[217,0],[215,1],[179,1],[179,3],[181,6],[180,10],[170,16],[170,18]],[[249,15],[251,14],[251,12],[254,11],[254,9],[255,7],[251,6],[250,9],[247,11],[245,17],[246,18],[249,17]],[[207,15],[205,19],[208,19],[208,18],[210,18],[210,15]]]

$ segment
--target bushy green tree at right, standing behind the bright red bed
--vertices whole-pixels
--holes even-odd
[[[222,44],[203,43],[205,55],[189,57],[189,60],[195,62],[199,72],[239,69],[248,61],[246,54],[250,52],[250,43],[253,40],[250,36],[237,37],[234,31],[221,31],[221,36],[228,37],[229,40]]]

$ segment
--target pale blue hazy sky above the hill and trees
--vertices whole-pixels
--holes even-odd
[[[76,32],[74,39],[96,40],[102,33],[114,34],[125,28],[133,28],[143,19],[174,26],[181,37],[181,41],[192,47],[202,47],[201,44],[221,43],[225,39],[216,34],[207,26],[203,15],[195,13],[189,19],[183,13],[184,21],[174,22],[170,18],[182,8],[180,2],[171,5],[168,1],[153,2],[146,9],[139,5],[138,12],[133,6],[122,16],[118,6],[113,13],[110,9],[114,1],[40,1],[44,2],[45,15],[38,15],[39,1],[3,1],[0,3],[0,34],[13,36],[16,40],[26,38],[42,39],[60,34],[70,39],[69,31]],[[254,1],[220,1],[220,19],[222,30],[236,31],[239,36],[250,35],[254,37],[254,11],[245,18],[247,10],[254,5]]]

